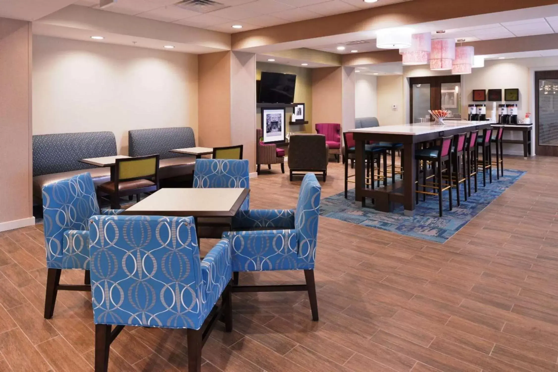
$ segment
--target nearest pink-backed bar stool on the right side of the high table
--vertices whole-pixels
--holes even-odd
[[[449,206],[450,210],[453,209],[452,196],[451,196],[451,148],[453,144],[453,137],[442,137],[440,138],[441,145],[429,148],[423,148],[415,151],[415,161],[416,161],[416,192],[423,194],[422,200],[426,200],[426,195],[437,195],[440,207],[440,217],[442,216],[442,191],[449,190]],[[422,162],[422,181],[423,184],[419,184],[420,175],[420,164]],[[426,163],[432,163],[432,172],[434,173],[434,183],[426,183],[427,177],[427,166]],[[442,170],[442,165],[446,163],[446,169]],[[448,177],[446,177],[447,184],[444,185],[444,178],[442,178],[442,171],[446,171]],[[431,176],[432,177],[432,176]],[[419,187],[422,186],[422,191],[419,191]],[[426,188],[430,187],[432,191],[437,190],[437,192],[426,191]],[[417,204],[419,199],[417,197]]]

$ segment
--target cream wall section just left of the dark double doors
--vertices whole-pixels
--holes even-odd
[[[377,78],[378,122],[380,125],[396,125],[406,123],[404,115],[405,100],[403,99],[403,76],[387,75]],[[397,105],[393,110],[392,106]]]

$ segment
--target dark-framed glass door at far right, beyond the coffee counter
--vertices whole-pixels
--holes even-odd
[[[537,155],[558,156],[558,71],[535,71]]]

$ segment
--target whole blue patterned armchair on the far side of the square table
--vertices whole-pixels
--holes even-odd
[[[194,187],[204,188],[250,188],[248,160],[197,159],[194,168]],[[240,206],[239,212],[250,207],[250,195]],[[230,219],[199,218],[199,238],[220,238],[223,231],[229,230]]]

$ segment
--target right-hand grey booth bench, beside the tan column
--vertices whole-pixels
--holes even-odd
[[[159,178],[190,176],[194,173],[195,156],[170,152],[175,148],[195,147],[190,127],[134,129],[128,131],[128,155],[159,154]]]

